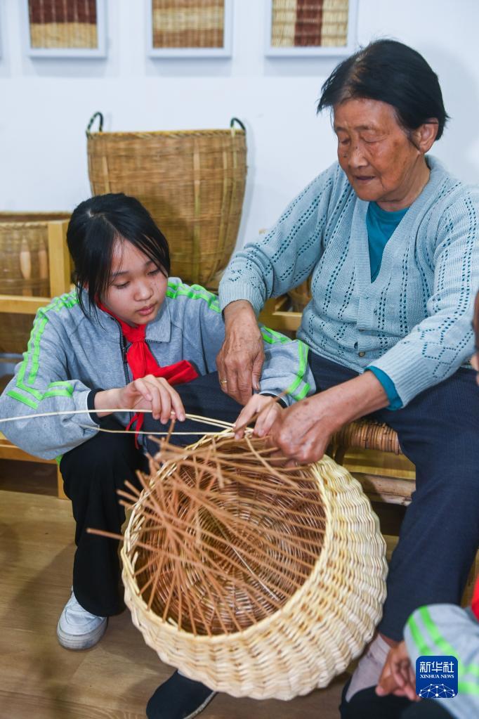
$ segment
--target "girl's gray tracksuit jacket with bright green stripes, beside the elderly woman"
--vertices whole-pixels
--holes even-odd
[[[314,393],[307,346],[265,327],[261,333],[266,355],[261,392],[278,395],[287,390],[284,400],[288,404]],[[224,336],[216,296],[199,285],[169,278],[164,304],[147,325],[146,341],[158,364],[187,359],[200,375],[215,372]],[[23,362],[15,367],[0,397],[0,420],[43,412],[83,412],[0,421],[0,431],[25,452],[45,459],[90,439],[98,424],[88,412],[88,395],[96,388],[131,382],[127,347],[118,322],[108,313],[98,310],[98,318],[86,317],[75,291],[55,298],[37,312]],[[131,416],[121,413],[117,418],[126,426]]]

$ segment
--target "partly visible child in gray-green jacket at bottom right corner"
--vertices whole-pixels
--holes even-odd
[[[475,298],[473,326],[476,352],[471,364],[478,373],[479,385],[479,293]],[[450,541],[460,541],[460,538]],[[417,658],[423,655],[456,657],[459,682],[455,697],[419,699],[415,668]],[[349,711],[351,719],[479,717],[479,580],[470,608],[433,604],[411,614],[404,627],[404,641],[389,651],[376,687],[376,697],[373,687],[358,692],[350,702]]]

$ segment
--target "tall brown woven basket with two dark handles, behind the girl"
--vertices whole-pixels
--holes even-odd
[[[169,242],[172,274],[185,282],[208,285],[228,264],[236,244],[246,134],[235,122],[224,130],[87,130],[92,192],[138,198]]]

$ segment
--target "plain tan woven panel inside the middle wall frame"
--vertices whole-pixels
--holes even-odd
[[[224,0],[152,0],[153,47],[223,47]]]

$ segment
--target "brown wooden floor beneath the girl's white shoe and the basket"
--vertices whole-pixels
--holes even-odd
[[[74,523],[70,503],[53,496],[55,481],[49,465],[0,462],[0,718],[143,719],[148,698],[172,669],[144,644],[128,611],[111,618],[93,649],[57,643]],[[201,716],[337,719],[346,678],[291,702],[218,695]]]

